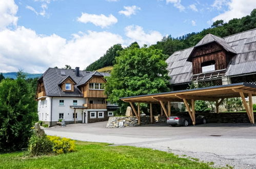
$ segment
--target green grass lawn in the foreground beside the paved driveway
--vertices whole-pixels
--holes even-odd
[[[0,168],[211,168],[171,153],[132,146],[76,141],[76,152],[28,157],[26,152],[0,154]]]

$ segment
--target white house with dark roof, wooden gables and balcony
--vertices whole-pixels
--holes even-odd
[[[106,121],[119,107],[106,101],[108,73],[49,68],[37,83],[38,118],[50,126],[57,121],[91,123]]]

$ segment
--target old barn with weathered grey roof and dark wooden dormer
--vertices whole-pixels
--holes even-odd
[[[207,34],[194,47],[174,52],[166,62],[173,91],[256,84],[256,29],[224,38]]]

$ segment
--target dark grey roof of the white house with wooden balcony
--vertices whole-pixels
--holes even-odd
[[[62,75],[61,71],[65,72],[66,75]],[[44,81],[46,96],[60,96],[60,97],[83,97],[82,92],[77,88],[80,81],[88,81],[93,75],[95,76],[110,76],[109,73],[99,73],[90,71],[80,71],[80,76],[75,75],[74,69],[56,69],[49,68],[47,71],[38,79]],[[74,92],[63,92],[59,83],[70,77],[77,84],[74,86]],[[87,79],[87,80],[85,80]],[[86,83],[85,82],[85,83]]]

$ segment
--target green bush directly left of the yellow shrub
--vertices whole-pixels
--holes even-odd
[[[52,152],[52,146],[53,143],[46,135],[38,137],[33,134],[29,139],[28,153],[32,156],[47,155]]]

